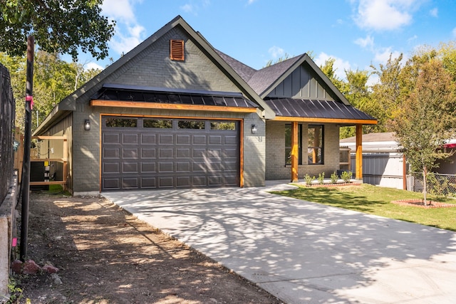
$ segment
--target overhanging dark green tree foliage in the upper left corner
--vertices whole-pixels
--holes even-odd
[[[78,50],[102,59],[108,56],[108,41],[115,21],[100,16],[103,0],[3,0],[0,1],[0,51],[13,56],[26,52],[28,36],[48,53]]]

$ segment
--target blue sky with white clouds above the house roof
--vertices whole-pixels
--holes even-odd
[[[336,75],[371,70],[390,54],[456,41],[455,0],[104,0],[116,21],[108,43],[114,61],[182,16],[219,51],[255,69],[310,53],[318,66],[335,58]],[[87,67],[109,60],[79,57]]]

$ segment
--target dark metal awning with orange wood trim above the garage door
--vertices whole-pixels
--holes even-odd
[[[212,107],[224,107],[234,112],[255,112],[258,107],[244,98],[242,93],[237,92],[176,90],[115,84],[104,84],[90,100],[90,105],[95,106],[115,106],[116,103],[119,106],[125,106],[125,102],[128,102],[128,106],[133,108],[170,108],[172,105],[181,105],[194,106],[197,110],[215,110]]]

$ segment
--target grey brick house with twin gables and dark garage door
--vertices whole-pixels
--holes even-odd
[[[361,161],[362,125],[375,123],[307,54],[255,70],[177,16],[61,100],[33,135],[66,136],[68,189],[87,194],[329,176],[339,127],[357,126]]]

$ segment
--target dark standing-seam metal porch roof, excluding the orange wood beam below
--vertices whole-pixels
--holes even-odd
[[[371,115],[338,101],[294,98],[269,98],[264,101],[277,116],[375,120]]]

